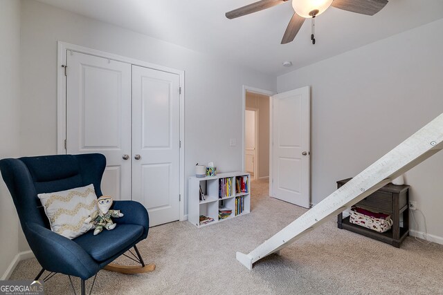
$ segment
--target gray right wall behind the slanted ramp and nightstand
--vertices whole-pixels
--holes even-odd
[[[311,86],[314,204],[443,112],[443,20],[320,61],[277,79],[278,92]],[[443,153],[406,173],[410,198],[443,243]],[[424,231],[415,213],[412,228]]]

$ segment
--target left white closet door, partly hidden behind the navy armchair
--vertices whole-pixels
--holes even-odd
[[[93,55],[66,55],[66,153],[102,153],[102,193],[131,199],[131,65]]]

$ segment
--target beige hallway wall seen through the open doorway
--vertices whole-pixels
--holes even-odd
[[[269,96],[246,92],[246,108],[258,108],[258,178],[269,177]]]

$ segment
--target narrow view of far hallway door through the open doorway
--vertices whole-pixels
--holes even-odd
[[[251,176],[255,179],[255,160],[256,160],[256,126],[255,124],[255,111],[244,111],[244,169],[246,172],[251,173]]]

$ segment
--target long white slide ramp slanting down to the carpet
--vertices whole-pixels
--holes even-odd
[[[249,254],[237,252],[239,260],[248,269],[253,263],[300,238],[347,207],[363,200],[377,189],[443,149],[443,114],[429,122],[407,140],[383,155],[377,162],[356,175],[327,198],[284,227],[277,234],[253,249]]]

